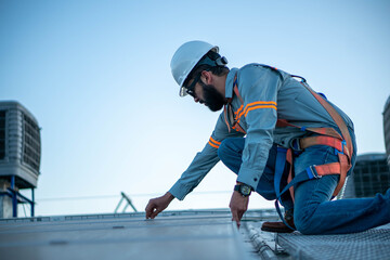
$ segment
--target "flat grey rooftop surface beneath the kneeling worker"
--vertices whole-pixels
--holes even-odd
[[[348,235],[265,233],[274,210],[227,209],[0,220],[1,259],[389,259],[390,224]]]

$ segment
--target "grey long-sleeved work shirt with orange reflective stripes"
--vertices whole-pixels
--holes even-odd
[[[244,103],[233,92],[235,76]],[[232,68],[226,77],[225,93],[226,98],[233,98],[231,104],[234,117],[246,132],[237,182],[246,183],[253,188],[258,185],[273,143],[288,148],[294,139],[308,134],[299,128],[276,127],[277,119],[286,119],[300,127],[332,127],[338,130],[329,114],[308,89],[283,70],[261,64]],[[337,106],[332,105],[353,131],[351,119]],[[219,161],[217,150],[224,139],[245,136],[231,127],[227,127],[222,112],[204,150],[196,154],[190,167],[169,190],[174,197],[184,199],[200,183]]]

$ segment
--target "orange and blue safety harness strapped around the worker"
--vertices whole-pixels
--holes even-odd
[[[282,77],[282,74],[274,67],[262,65],[264,67],[271,68],[280,74]],[[300,127],[292,123],[289,123],[286,119],[278,118],[276,121],[276,127],[294,127],[298,128],[301,131],[306,132],[312,132],[316,133],[314,136],[307,136],[301,138],[299,140],[296,140],[294,142],[294,150],[295,151],[303,151],[310,146],[313,145],[326,145],[335,148],[335,154],[338,155],[338,162],[332,162],[332,164],[325,164],[325,165],[312,165],[308,167],[304,171],[299,172],[298,174],[295,174],[292,171],[292,162],[294,162],[294,155],[295,152],[291,148],[284,148],[284,147],[277,147],[277,155],[276,155],[276,164],[275,164],[275,177],[274,177],[274,187],[276,193],[276,200],[275,200],[275,207],[276,211],[280,214],[283,222],[290,227],[291,230],[295,230],[290,225],[286,223],[284,220],[281,209],[280,209],[280,200],[282,194],[284,194],[286,191],[289,191],[292,202],[294,202],[294,185],[304,182],[312,179],[320,179],[323,176],[328,174],[340,174],[340,179],[338,182],[338,185],[336,186],[333,197],[337,196],[339,191],[342,188],[347,172],[352,167],[351,164],[351,157],[353,154],[353,146],[352,146],[352,140],[351,135],[349,133],[348,127],[341,116],[337,113],[337,110],[318,93],[314,92],[309,84],[307,84],[307,81],[304,78],[290,75],[291,77],[300,78],[300,83],[310,91],[310,93],[320,102],[320,104],[326,109],[326,112],[329,114],[329,116],[333,118],[334,122],[337,125],[338,129],[340,130],[341,134],[339,134],[335,129],[333,128],[307,128],[307,127]],[[244,105],[244,100],[238,93],[238,87],[237,87],[237,76],[234,78],[233,83],[233,91],[235,95],[239,99],[240,103]],[[239,117],[238,112],[236,113],[236,117],[233,117],[233,108],[231,105],[232,99],[227,100],[227,104],[224,106],[224,118],[225,122],[227,125],[229,131],[230,126],[232,126],[233,129],[236,131],[243,132],[246,134],[244,129],[239,126]],[[281,181],[283,177],[283,172],[285,169],[285,164],[288,164],[289,172],[287,177],[287,185],[283,188],[281,192]]]

